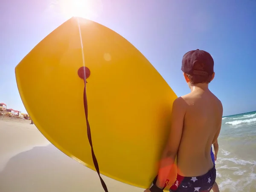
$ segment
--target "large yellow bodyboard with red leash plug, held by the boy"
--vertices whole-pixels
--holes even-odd
[[[177,96],[121,35],[79,17],[51,32],[15,68],[26,111],[53,145],[95,170],[87,139],[84,81],[78,76],[84,65],[90,70],[88,120],[100,173],[149,187]],[[176,175],[174,167],[169,186]]]

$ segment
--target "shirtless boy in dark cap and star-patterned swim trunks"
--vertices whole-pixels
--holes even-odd
[[[214,78],[214,61],[203,50],[187,52],[182,59],[183,75],[191,93],[177,98],[172,106],[172,126],[163,150],[156,183],[144,192],[163,192],[177,155],[177,179],[170,192],[209,192],[216,170],[211,145],[221,130],[223,108],[208,89]]]

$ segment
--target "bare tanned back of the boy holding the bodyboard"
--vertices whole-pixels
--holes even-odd
[[[210,149],[221,128],[222,104],[208,89],[199,87],[179,99],[185,116],[177,152],[178,174],[204,175],[213,166]]]

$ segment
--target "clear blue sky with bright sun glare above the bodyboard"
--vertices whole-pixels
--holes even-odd
[[[178,96],[189,92],[180,70],[184,53],[208,51],[216,73],[210,90],[221,99],[224,115],[256,111],[255,0],[83,0],[73,6],[78,1],[1,3],[0,102],[26,112],[15,66],[46,35],[77,14],[130,41]]]

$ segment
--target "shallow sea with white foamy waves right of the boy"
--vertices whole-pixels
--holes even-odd
[[[256,192],[256,111],[224,116],[216,170],[221,192]]]

